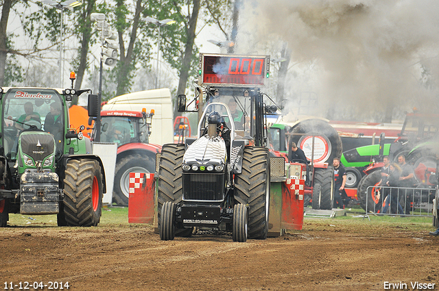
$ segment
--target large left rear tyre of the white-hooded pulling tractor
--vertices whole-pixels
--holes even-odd
[[[183,199],[182,162],[185,155],[185,144],[164,144],[158,164],[158,197],[157,216],[158,229],[161,227],[162,206],[166,202],[175,205]],[[191,236],[193,228],[177,229],[176,236]]]

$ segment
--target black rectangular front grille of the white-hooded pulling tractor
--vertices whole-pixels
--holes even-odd
[[[224,174],[183,173],[183,200],[224,199]]]

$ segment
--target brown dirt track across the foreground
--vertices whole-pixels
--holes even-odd
[[[385,281],[401,281],[412,290],[411,281],[439,283],[439,238],[412,229],[305,220],[302,231],[238,243],[209,234],[163,242],[151,225],[7,227],[0,288],[69,281],[69,290],[385,290]]]

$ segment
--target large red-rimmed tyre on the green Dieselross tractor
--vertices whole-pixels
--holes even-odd
[[[102,214],[102,173],[96,160],[69,160],[64,178],[64,214],[67,225],[90,227]]]

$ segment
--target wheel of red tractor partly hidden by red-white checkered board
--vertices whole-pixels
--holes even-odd
[[[123,157],[116,164],[113,201],[119,206],[128,206],[130,197],[130,173],[154,173],[156,160],[136,153]]]

